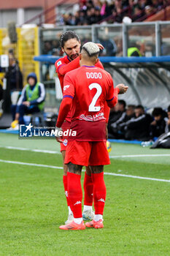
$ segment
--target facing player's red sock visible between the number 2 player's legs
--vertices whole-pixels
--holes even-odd
[[[85,179],[83,184],[85,190],[84,206],[93,205],[93,181],[91,176],[85,172]]]

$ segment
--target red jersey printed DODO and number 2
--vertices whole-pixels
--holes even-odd
[[[111,75],[98,67],[82,66],[65,75],[63,99],[72,98],[71,129],[76,140],[106,140],[104,104],[114,98]]]

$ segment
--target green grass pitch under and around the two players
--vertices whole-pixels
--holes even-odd
[[[67,218],[62,170],[20,162],[62,167],[61,154],[34,149],[59,145],[0,134],[0,161],[18,162],[0,162],[0,255],[170,255],[170,182],[105,175],[104,229],[59,230]],[[112,143],[110,156],[107,173],[170,180],[169,149]]]

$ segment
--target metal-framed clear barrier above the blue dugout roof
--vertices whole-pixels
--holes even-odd
[[[102,56],[127,56],[128,48],[131,47],[139,48],[142,56],[170,55],[170,21],[40,28],[42,48],[46,41],[59,41],[60,35],[66,30],[75,31],[82,44],[88,41],[103,43],[106,52]],[[47,34],[51,36],[48,37]],[[115,52],[112,47],[116,48]],[[41,53],[43,54],[43,50]]]

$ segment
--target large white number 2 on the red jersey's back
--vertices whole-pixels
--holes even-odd
[[[97,111],[101,110],[100,106],[95,106],[96,101],[98,100],[98,97],[100,97],[100,95],[101,95],[101,91],[102,91],[101,86],[98,83],[90,83],[90,86],[88,86],[88,88],[90,90],[96,88],[96,90],[97,90],[96,94],[94,95],[94,97],[88,107],[88,111],[89,112],[97,112]]]

